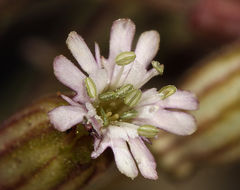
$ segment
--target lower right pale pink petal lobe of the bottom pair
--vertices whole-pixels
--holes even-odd
[[[128,143],[141,174],[148,179],[157,179],[156,162],[141,138],[130,138]]]

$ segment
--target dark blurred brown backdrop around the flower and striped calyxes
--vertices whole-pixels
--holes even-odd
[[[160,51],[155,59],[165,65],[165,74],[153,79],[148,87],[169,83],[184,86],[186,80],[191,80],[185,79],[186,75],[197,72],[196,68],[191,70],[193,67],[208,64],[200,60],[210,54],[222,55],[221,49],[225,46],[230,47],[231,54],[231,47],[239,44],[238,0],[1,0],[0,122],[37,98],[67,90],[55,79],[52,62],[59,54],[73,60],[65,45],[70,31],[77,31],[91,50],[94,42],[98,42],[102,55],[107,57],[110,27],[118,18],[130,18],[135,22],[135,43],[146,30],[160,32]],[[236,48],[234,52],[234,56],[239,56]],[[240,67],[240,59],[236,65]],[[230,94],[231,88],[235,86],[226,87]],[[229,125],[231,123],[225,123]],[[88,188],[239,189],[240,165],[238,159],[233,160],[218,166],[203,164],[203,169],[188,172],[187,177],[183,175],[181,179],[160,167],[156,182],[141,177],[131,181],[113,166]]]

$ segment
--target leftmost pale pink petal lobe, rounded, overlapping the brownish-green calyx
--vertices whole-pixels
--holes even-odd
[[[60,106],[48,113],[50,122],[59,131],[66,131],[80,123],[85,110],[80,106]]]

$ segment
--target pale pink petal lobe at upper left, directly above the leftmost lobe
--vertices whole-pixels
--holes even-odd
[[[88,99],[84,87],[85,75],[71,61],[60,55],[54,59],[53,68],[58,80],[77,92],[79,101]]]

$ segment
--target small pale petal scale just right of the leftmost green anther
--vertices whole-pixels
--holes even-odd
[[[102,91],[108,86],[108,74],[105,69],[99,69],[96,72],[89,75],[89,77],[94,81],[97,94],[101,94]]]

